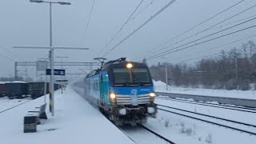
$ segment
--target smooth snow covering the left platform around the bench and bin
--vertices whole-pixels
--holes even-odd
[[[23,116],[43,103],[43,97],[0,113],[0,143],[134,143],[73,90],[55,92],[55,116],[47,107],[48,119],[36,133],[23,133]]]

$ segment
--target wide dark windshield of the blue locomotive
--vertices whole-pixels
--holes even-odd
[[[146,68],[114,68],[113,72],[115,84],[151,84]]]

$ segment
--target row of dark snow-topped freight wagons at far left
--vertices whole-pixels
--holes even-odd
[[[54,84],[54,90],[60,88],[59,84]],[[25,98],[32,99],[39,98],[44,94],[45,82],[2,82],[0,83],[0,97]],[[46,83],[46,94],[49,93],[49,82]]]

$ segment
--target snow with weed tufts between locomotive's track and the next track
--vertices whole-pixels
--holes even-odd
[[[254,144],[256,136],[158,110],[146,127],[178,144]]]

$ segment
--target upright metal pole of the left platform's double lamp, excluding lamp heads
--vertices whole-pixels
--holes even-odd
[[[52,14],[51,14],[51,2],[50,2],[50,103],[51,103],[51,115],[54,116],[54,49],[52,43]]]

